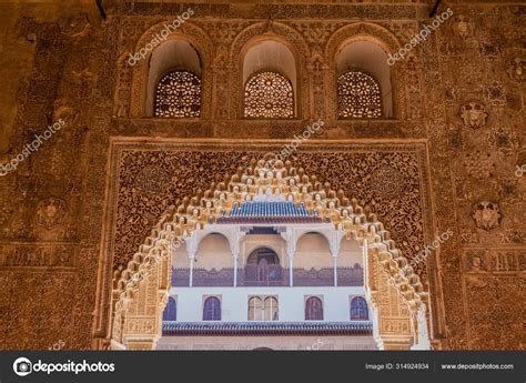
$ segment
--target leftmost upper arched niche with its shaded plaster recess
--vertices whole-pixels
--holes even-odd
[[[170,79],[170,73],[172,79]],[[188,41],[182,39],[172,39],[160,44],[151,54],[148,68],[148,83],[145,97],[145,115],[155,117],[155,98],[159,87],[170,81],[191,81],[190,85],[195,89],[195,97],[201,98],[202,63],[196,49]],[[199,89],[196,88],[199,85]],[[159,94],[158,94],[159,95]],[[185,107],[191,103],[185,100]],[[194,102],[193,110],[199,105]],[[175,117],[184,117],[181,115]],[[190,117],[198,117],[198,113],[191,113]],[[194,115],[198,114],[198,115]]]

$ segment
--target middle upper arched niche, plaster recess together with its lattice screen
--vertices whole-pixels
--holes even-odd
[[[257,40],[249,43],[242,60],[243,115],[295,118],[299,77],[292,50],[277,40]]]

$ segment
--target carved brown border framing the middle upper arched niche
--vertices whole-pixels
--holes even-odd
[[[296,30],[274,21],[260,22],[245,28],[236,36],[230,47],[229,61],[230,68],[232,68],[229,80],[232,100],[230,117],[243,118],[244,84],[242,68],[244,53],[251,44],[264,40],[275,40],[284,43],[296,59],[297,113],[295,119],[303,119],[310,110],[310,81],[308,73],[305,70],[310,58],[308,44]]]

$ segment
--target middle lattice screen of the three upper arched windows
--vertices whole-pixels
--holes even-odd
[[[276,72],[260,72],[245,84],[244,117],[291,119],[294,117],[294,91],[291,81]]]

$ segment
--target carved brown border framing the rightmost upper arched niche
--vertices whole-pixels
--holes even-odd
[[[355,41],[371,41],[382,48],[387,54],[395,53],[402,47],[396,37],[385,28],[368,23],[357,22],[336,30],[328,39],[325,47],[328,70],[325,74],[327,85],[327,115],[338,120],[337,105],[337,68],[336,54],[346,44]],[[393,117],[404,119],[406,115],[406,100],[403,84],[402,65],[391,67],[391,87],[393,90]],[[340,120],[345,121],[345,120]]]

